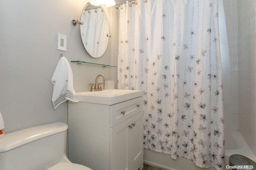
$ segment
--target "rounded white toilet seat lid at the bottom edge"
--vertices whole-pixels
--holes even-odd
[[[47,170],[92,170],[86,166],[74,163],[60,162]]]

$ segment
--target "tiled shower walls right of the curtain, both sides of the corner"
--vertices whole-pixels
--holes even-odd
[[[223,0],[231,78],[232,126],[256,153],[256,0]]]

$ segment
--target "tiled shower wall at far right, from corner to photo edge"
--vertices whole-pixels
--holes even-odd
[[[255,0],[238,0],[238,131],[256,154]]]

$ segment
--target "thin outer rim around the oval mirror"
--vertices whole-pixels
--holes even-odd
[[[86,10],[86,7],[87,7],[88,5],[90,5],[90,2],[88,2],[87,4],[85,4],[85,6],[84,6],[84,8],[83,8],[83,10],[82,10],[81,17],[80,17],[80,20],[81,20],[82,22],[84,22],[84,21],[82,20],[82,16],[83,16],[84,11]],[[95,6],[95,7],[98,7],[98,6]],[[109,43],[109,37],[107,36],[107,35],[109,35],[109,31],[110,31],[108,16],[107,16],[107,14],[106,14],[105,9],[102,7],[102,5],[100,5],[100,8],[102,8],[104,14],[106,15],[106,20],[107,20],[107,22],[108,22],[108,33],[106,34],[106,37],[107,37],[107,39],[108,39],[107,41],[108,41],[108,43]],[[86,52],[87,52],[91,57],[93,57],[93,58],[100,58],[100,57],[102,57],[102,55],[104,55],[104,53],[106,52],[106,49],[108,48],[108,43],[106,44],[106,47],[105,47],[105,49],[104,49],[104,53],[102,53],[102,54],[99,55],[99,56],[93,56],[92,53],[90,53],[90,52],[88,51],[88,48],[86,48],[86,44],[85,44],[85,42],[84,42],[84,40],[83,40],[83,38],[82,38],[82,29],[81,29],[82,26],[83,26],[83,25],[80,25],[80,35],[81,35],[82,43],[83,43],[83,45],[84,45],[84,49],[85,49]]]

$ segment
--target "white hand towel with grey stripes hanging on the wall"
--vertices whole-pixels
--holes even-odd
[[[70,100],[72,102],[79,102],[76,92],[73,88],[73,73],[65,57],[61,57],[51,80],[53,86],[52,103],[54,109],[60,104]]]

